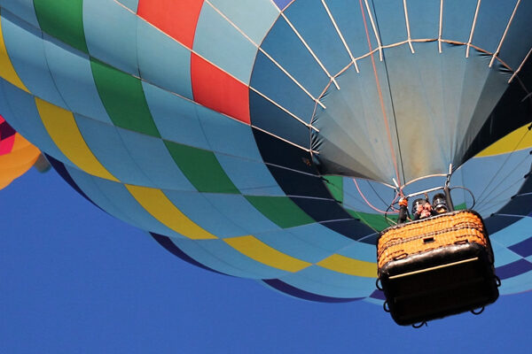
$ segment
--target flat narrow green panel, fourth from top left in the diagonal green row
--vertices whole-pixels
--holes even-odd
[[[298,227],[316,222],[287,196],[246,196],[246,199],[279,227]]]

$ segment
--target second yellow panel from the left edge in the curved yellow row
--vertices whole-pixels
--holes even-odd
[[[75,123],[72,112],[37,97],[35,97],[35,103],[51,140],[56,143],[66,158],[86,173],[106,180],[118,181],[90,151]]]

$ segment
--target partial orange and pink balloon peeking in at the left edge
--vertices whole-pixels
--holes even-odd
[[[26,173],[40,155],[41,151],[0,116],[0,189]]]

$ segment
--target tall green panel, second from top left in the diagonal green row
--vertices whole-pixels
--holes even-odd
[[[98,94],[114,125],[160,137],[141,81],[94,58],[90,59],[90,67]]]

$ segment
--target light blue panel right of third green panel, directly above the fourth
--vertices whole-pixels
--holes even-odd
[[[215,155],[240,193],[246,196],[285,196],[263,163],[218,153]]]

